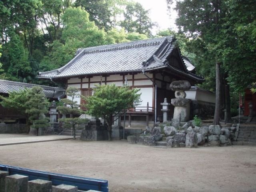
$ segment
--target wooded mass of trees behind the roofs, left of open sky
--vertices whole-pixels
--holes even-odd
[[[132,30],[123,26],[132,17]],[[148,11],[126,0],[3,0],[0,2],[0,77],[43,83],[39,71],[64,66],[78,48],[151,37]]]

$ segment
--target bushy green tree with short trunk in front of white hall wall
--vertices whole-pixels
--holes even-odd
[[[115,116],[125,109],[134,108],[140,103],[139,89],[117,87],[111,85],[97,85],[94,94],[86,99],[87,113],[106,119],[108,124],[108,140],[111,140],[112,124]]]

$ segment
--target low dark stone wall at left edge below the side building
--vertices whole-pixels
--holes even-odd
[[[4,124],[0,123],[0,134],[2,133],[28,133],[27,124]]]

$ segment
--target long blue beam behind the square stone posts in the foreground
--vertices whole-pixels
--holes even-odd
[[[66,184],[77,186],[78,190],[97,190],[108,192],[108,180],[64,175],[3,164],[0,164],[0,170],[9,172],[9,175],[20,174],[28,176],[28,180],[43,179],[52,181],[52,185]]]

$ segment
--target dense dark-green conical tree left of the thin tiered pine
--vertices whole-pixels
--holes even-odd
[[[34,134],[34,130],[36,130],[36,135],[38,136],[38,130],[40,128],[43,130],[49,126],[49,120],[44,114],[48,113],[50,103],[46,99],[43,88],[34,86],[28,90],[25,106],[26,113],[29,116],[28,119],[32,122],[30,134]]]

